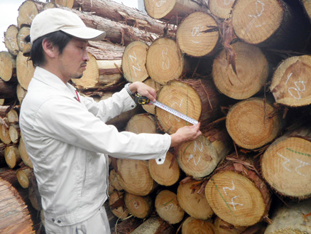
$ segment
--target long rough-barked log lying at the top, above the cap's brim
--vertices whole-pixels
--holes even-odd
[[[159,36],[175,37],[175,26],[167,25],[141,11],[116,3],[115,1],[75,0],[74,8],[81,9],[82,11],[94,12],[97,16],[141,28],[142,30],[158,34]]]

